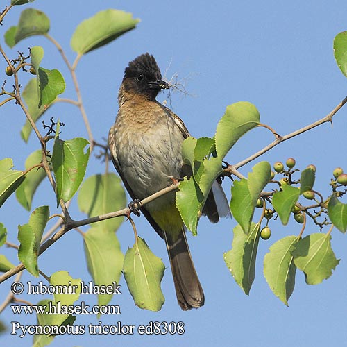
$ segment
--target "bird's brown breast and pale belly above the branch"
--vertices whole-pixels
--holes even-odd
[[[181,178],[184,137],[158,103],[140,97],[124,101],[114,129],[119,169],[137,198],[171,185],[171,178]],[[174,195],[167,202],[173,199]]]

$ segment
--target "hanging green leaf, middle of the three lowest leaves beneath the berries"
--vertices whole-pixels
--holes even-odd
[[[287,236],[279,239],[264,257],[264,276],[273,294],[288,306],[288,299],[294,291],[296,266],[291,252],[298,237]]]

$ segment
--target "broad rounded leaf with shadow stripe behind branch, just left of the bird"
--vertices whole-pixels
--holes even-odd
[[[94,175],[88,177],[78,192],[78,208],[88,217],[99,216],[126,207],[126,194],[121,179],[115,174]],[[123,217],[111,218],[98,222],[102,229],[115,232]]]

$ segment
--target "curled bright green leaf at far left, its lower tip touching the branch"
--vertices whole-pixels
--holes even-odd
[[[40,242],[48,220],[49,207],[41,206],[33,211],[27,224],[18,226],[18,241],[20,242],[18,250],[19,260],[36,277],[39,276],[37,257]]]

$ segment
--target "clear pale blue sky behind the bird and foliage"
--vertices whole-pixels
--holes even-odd
[[[5,1],[3,1],[5,3]],[[71,62],[74,52],[69,40],[77,24],[99,10],[117,8],[132,12],[141,19],[137,28],[102,49],[83,57],[77,69],[78,81],[87,115],[96,139],[108,135],[117,114],[117,90],[129,60],[141,53],[152,53],[165,78],[178,75],[189,95],[171,95],[171,107],[185,121],[196,137],[212,136],[226,105],[250,101],[260,110],[261,121],[285,135],[325,116],[346,96],[346,78],[339,71],[333,56],[332,41],[347,30],[346,1],[42,1],[29,5],[43,10],[51,19],[50,34],[60,42]],[[19,12],[29,7],[18,6],[10,11],[1,26],[0,42],[7,28],[17,23]],[[42,65],[58,68],[67,81],[65,96],[75,98],[71,79],[58,53],[42,37],[20,42],[8,49],[15,57],[18,49],[44,46]],[[0,60],[0,69],[5,64]],[[8,78],[9,81],[9,78]],[[24,76],[25,84],[26,76]],[[159,101],[168,99],[162,93]],[[26,156],[38,148],[31,137],[28,145],[19,137],[24,115],[15,105],[1,108],[1,158],[15,158],[15,167],[24,165]],[[81,116],[71,105],[59,105],[44,117],[59,117],[67,124],[62,135],[87,137]],[[261,159],[242,168],[243,174],[260,160],[285,161],[296,158],[298,168],[315,164],[316,190],[329,194],[332,170],[346,164],[346,117],[342,109],[334,118],[333,127],[325,124],[300,137],[277,146]],[[227,160],[236,163],[255,153],[272,141],[271,133],[257,128],[243,137],[228,154]],[[87,175],[103,172],[103,164],[92,158]],[[224,184],[230,196],[230,183]],[[47,193],[48,192],[48,193]],[[33,208],[55,198],[49,185],[42,185],[33,201]],[[52,207],[51,213],[54,208]],[[83,218],[72,204],[74,219]],[[25,212],[10,198],[0,210],[0,221],[8,228],[8,240],[16,242],[17,226],[28,221]],[[139,234],[152,251],[169,266],[162,240],[151,230],[144,217],[136,219]],[[300,227],[289,223],[273,223],[269,241],[260,240],[255,282],[250,296],[244,295],[223,262],[223,252],[231,248],[234,219],[211,225],[202,219],[198,237],[189,235],[189,245],[199,278],[205,291],[205,306],[183,312],[176,303],[174,284],[169,269],[165,271],[162,290],[166,302],[160,312],[149,312],[135,307],[121,280],[124,294],[112,303],[121,306],[121,315],[103,316],[103,324],[121,321],[124,324],[146,324],[149,321],[183,321],[184,335],[79,335],[57,337],[51,346],[341,346],[347,338],[345,316],[346,296],[346,237],[332,231],[332,247],[341,262],[329,280],[321,285],[305,284],[303,273],[296,274],[296,287],[289,299],[289,307],[274,296],[262,274],[262,260],[269,246],[285,235],[298,235]],[[86,230],[86,229],[85,229]],[[319,232],[312,223],[308,232]],[[133,233],[128,224],[118,231],[122,250],[133,245]],[[1,249],[12,262],[17,258],[12,250]],[[78,232],[71,231],[40,257],[42,271],[47,274],[65,269],[74,278],[90,280],[84,261],[83,242]],[[33,280],[25,274],[24,282]],[[10,281],[0,286],[0,298],[10,288]],[[36,303],[40,298],[24,296]],[[87,296],[91,305],[96,298]],[[0,300],[2,301],[2,300]],[[0,319],[9,323],[20,321],[35,324],[34,316],[15,317],[9,308]],[[95,316],[78,316],[76,323],[87,325],[98,322]],[[8,333],[0,336],[3,346],[29,346],[31,337],[19,341]]]

